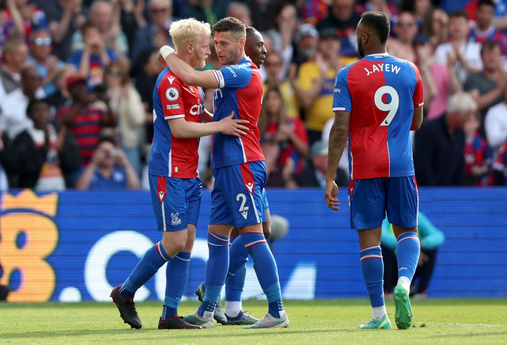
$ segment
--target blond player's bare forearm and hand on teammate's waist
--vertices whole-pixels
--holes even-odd
[[[185,118],[177,118],[167,121],[169,122],[172,135],[178,139],[200,138],[215,133],[233,135],[235,137],[246,135],[248,127],[245,127],[242,124],[247,124],[248,120],[235,120],[233,117],[234,111],[227,118],[205,124],[190,122],[185,120]]]

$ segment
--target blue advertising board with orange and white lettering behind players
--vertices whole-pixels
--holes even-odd
[[[334,212],[321,190],[268,190],[271,214],[289,221],[272,247],[285,298],[367,296],[346,193]],[[507,296],[507,189],[420,188],[419,198],[420,211],[446,236],[428,296]],[[204,280],[209,209],[204,191],[184,299],[195,298]],[[12,191],[2,194],[0,211],[0,284],[15,289],[10,301],[108,300],[161,237],[146,191]],[[163,299],[164,289],[163,267],[136,300]],[[263,298],[251,260],[244,298]]]

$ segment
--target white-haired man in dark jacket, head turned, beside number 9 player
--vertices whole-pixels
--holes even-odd
[[[414,167],[418,185],[465,183],[463,126],[476,110],[472,96],[456,93],[449,98],[445,116],[424,123],[415,133]]]

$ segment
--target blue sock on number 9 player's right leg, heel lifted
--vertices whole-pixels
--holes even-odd
[[[398,236],[396,246],[396,260],[398,262],[398,278],[414,278],[417,262],[419,261],[419,236],[414,232],[403,233]],[[410,285],[410,284],[409,284]]]

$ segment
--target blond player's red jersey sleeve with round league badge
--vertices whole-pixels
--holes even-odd
[[[164,76],[158,87],[164,119],[172,120],[185,117],[185,103],[183,101],[183,84],[177,78]]]

